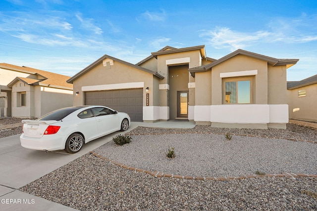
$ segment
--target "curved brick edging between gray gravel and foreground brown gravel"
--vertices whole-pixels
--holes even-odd
[[[163,173],[161,171],[152,171],[152,170],[144,170],[132,166],[128,166],[125,164],[122,164],[120,162],[110,160],[108,158],[105,158],[104,156],[91,151],[90,154],[93,156],[103,159],[109,163],[112,163],[116,166],[119,166],[123,169],[129,169],[129,170],[135,170],[139,172],[144,172],[147,174],[150,174],[154,177],[169,177],[169,178],[178,178],[178,179],[194,179],[194,180],[232,180],[232,179],[248,179],[248,178],[259,178],[259,177],[290,177],[290,178],[296,178],[296,177],[317,177],[317,174],[305,174],[305,173],[289,173],[289,172],[282,172],[282,173],[265,173],[264,175],[258,175],[258,174],[246,174],[241,176],[184,176],[184,175],[178,175],[178,174],[170,174],[170,173]]]

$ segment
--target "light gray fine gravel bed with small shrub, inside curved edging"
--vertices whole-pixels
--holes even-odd
[[[113,141],[95,152],[145,170],[191,176],[239,176],[265,173],[317,174],[317,144],[275,138],[219,134],[132,135],[132,142]],[[168,146],[176,157],[165,156]]]

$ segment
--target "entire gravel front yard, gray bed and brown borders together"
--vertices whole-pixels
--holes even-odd
[[[219,134],[228,131],[317,140],[317,130],[293,124],[288,124],[286,130],[138,127],[130,132],[131,143],[119,147],[111,141],[96,152],[110,159],[121,159],[124,164],[144,165],[136,166],[139,168],[166,168],[160,170],[186,175],[241,175],[256,170],[317,174],[316,143],[238,135],[229,141]],[[187,133],[159,134],[173,132]],[[151,134],[136,135],[139,133]],[[176,158],[165,157],[167,145],[175,147]],[[226,181],[156,178],[122,169],[91,154],[20,190],[78,210],[317,210],[316,177]]]

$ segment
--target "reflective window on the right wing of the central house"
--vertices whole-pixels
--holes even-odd
[[[224,104],[252,103],[252,78],[226,78],[224,84]]]

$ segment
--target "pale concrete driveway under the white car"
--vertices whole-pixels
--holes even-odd
[[[132,122],[127,131],[141,125],[144,123]],[[17,189],[98,148],[120,133],[122,134],[119,131],[114,132],[91,141],[76,154],[66,154],[64,151],[46,153],[25,149],[21,147],[19,135],[0,138],[0,210],[74,210]]]

